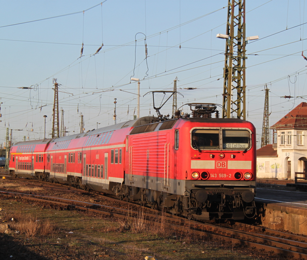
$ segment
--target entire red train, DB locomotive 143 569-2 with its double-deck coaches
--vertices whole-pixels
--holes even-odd
[[[142,117],[72,136],[16,143],[10,171],[196,219],[253,217],[255,127],[245,120],[211,118],[218,113],[214,104],[189,105],[191,114],[177,111],[170,120]],[[45,146],[20,148],[34,142]],[[17,162],[28,154],[32,164],[25,170]],[[33,160],[39,155],[41,164]]]

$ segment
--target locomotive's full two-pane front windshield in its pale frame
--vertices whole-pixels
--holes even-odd
[[[193,129],[191,142],[196,150],[245,150],[251,147],[250,132],[241,129]]]

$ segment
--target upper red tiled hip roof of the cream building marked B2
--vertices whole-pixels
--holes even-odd
[[[299,104],[281,120],[272,125],[271,128],[307,128],[307,103],[302,102]]]

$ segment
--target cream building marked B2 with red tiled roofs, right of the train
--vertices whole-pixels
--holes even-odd
[[[286,114],[273,129],[273,144],[257,150],[257,178],[294,179],[307,172],[307,103]]]

